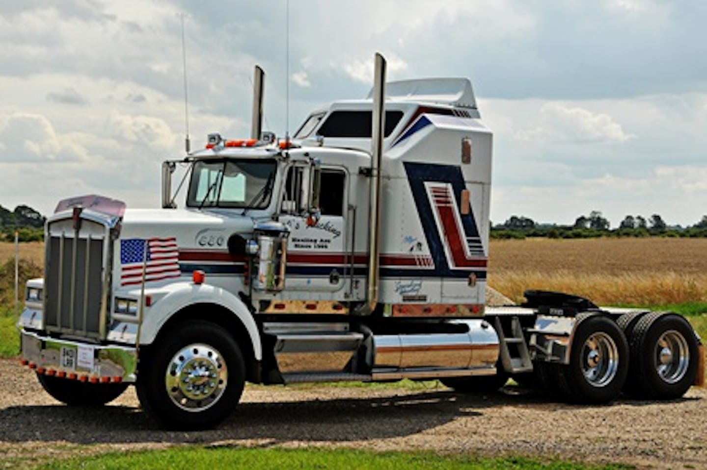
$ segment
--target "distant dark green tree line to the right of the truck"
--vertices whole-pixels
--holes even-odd
[[[707,215],[689,226],[668,225],[659,214],[646,218],[626,215],[616,229],[610,229],[609,220],[599,210],[580,215],[572,225],[539,224],[530,217],[513,215],[503,224],[491,224],[491,238],[523,239],[541,236],[553,239],[585,239],[598,236],[675,236],[707,237]]]

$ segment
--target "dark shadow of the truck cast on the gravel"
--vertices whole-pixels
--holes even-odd
[[[617,402],[626,403],[633,402]],[[11,406],[0,410],[0,421],[12,423],[4,427],[0,442],[347,442],[404,437],[442,426],[457,418],[484,419],[486,410],[500,406],[530,406],[546,412],[564,412],[583,407],[554,402],[530,390],[510,390],[488,395],[435,390],[374,398],[245,402],[239,404],[233,415],[214,430],[171,431],[161,428],[159,423],[136,406]]]

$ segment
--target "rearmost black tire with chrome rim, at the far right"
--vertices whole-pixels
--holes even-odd
[[[631,334],[631,393],[650,399],[682,397],[695,380],[699,345],[680,315],[651,312]]]

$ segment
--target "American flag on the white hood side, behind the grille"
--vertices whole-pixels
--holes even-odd
[[[120,241],[120,285],[142,283],[144,258],[146,282],[180,277],[177,239],[126,239]]]

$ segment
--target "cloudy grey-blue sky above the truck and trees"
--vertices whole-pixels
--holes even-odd
[[[49,214],[87,193],[158,205],[160,162],[184,148],[183,15],[192,146],[250,133],[255,64],[282,135],[365,96],[379,51],[392,80],[471,78],[495,133],[493,222],[707,214],[706,2],[291,0],[289,21],[287,9],[0,0],[0,205]]]

